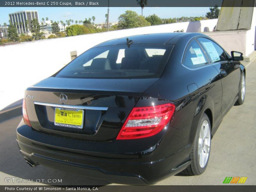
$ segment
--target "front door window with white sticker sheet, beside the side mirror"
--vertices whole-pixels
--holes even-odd
[[[205,51],[209,54],[212,62],[226,61],[228,57],[226,53],[221,49],[219,45],[207,38],[197,38],[197,40],[203,45]]]

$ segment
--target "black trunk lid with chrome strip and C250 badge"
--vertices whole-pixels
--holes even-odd
[[[140,95],[158,78],[73,79],[49,77],[26,90],[28,118],[38,131],[84,140],[116,138]],[[65,104],[60,95],[67,96]],[[57,126],[55,108],[83,108],[83,128]]]

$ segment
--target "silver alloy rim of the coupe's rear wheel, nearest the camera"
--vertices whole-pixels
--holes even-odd
[[[211,147],[211,132],[209,122],[204,120],[200,129],[198,139],[198,160],[200,167],[204,168],[208,158]]]

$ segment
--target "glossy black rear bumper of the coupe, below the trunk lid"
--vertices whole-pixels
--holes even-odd
[[[124,142],[127,144],[127,141],[92,142],[53,136],[32,129],[23,120],[17,128],[17,142],[24,158],[35,165],[122,184],[153,184],[180,172],[190,163],[190,147],[164,158],[158,150],[159,142],[141,153],[138,153],[138,147],[134,147],[136,145],[126,146],[127,151],[133,150],[134,153],[114,153],[118,151],[116,148],[125,148]]]

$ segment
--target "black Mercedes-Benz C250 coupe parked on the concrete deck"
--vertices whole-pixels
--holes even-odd
[[[20,152],[32,167],[115,183],[199,175],[221,120],[244,102],[239,60],[200,33],[96,45],[26,90]]]

